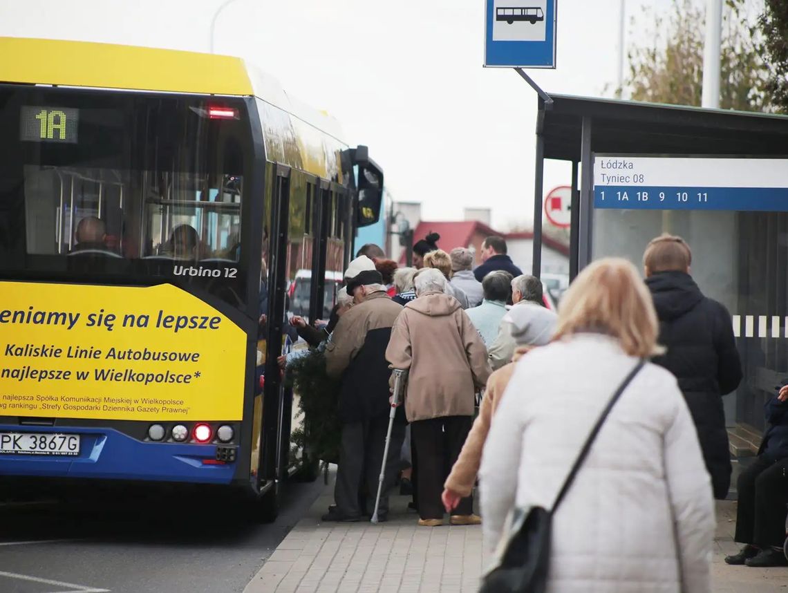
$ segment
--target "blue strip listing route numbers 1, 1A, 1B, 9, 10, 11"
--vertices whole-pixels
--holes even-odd
[[[664,195],[663,201],[660,193]],[[788,187],[598,185],[594,187],[593,204],[594,208],[604,209],[788,212]]]

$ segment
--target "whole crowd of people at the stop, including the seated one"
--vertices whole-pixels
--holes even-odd
[[[627,261],[594,262],[556,315],[503,239],[485,240],[475,270],[470,251],[447,254],[438,239],[416,243],[412,269],[391,269],[381,251],[375,261],[359,254],[346,273],[353,304],[325,347],[329,374],[342,380],[344,425],[336,506],[324,519],[370,513],[391,369],[407,379],[389,450],[410,452],[418,524],[437,527],[446,513],[451,524],[481,523],[489,554],[505,549],[513,510],[551,508],[621,385],[552,518],[549,588],[709,591],[714,499],[726,497],[731,473],[723,396],[742,367],[730,313],[690,276],[689,246],[670,235],[649,243],[645,282]],[[783,387],[768,402],[761,453],[738,481],[736,539],[745,547],[729,564],[786,564],[777,551],[788,503],[786,412]],[[396,453],[382,521],[401,469]]]

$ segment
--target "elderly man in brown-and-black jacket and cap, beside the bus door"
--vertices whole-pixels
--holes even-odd
[[[371,513],[383,463],[388,429],[388,377],[386,348],[394,320],[402,311],[386,294],[381,273],[366,256],[351,261],[348,295],[354,305],[336,324],[325,348],[326,372],[341,377],[339,413],[342,421],[340,462],[336,473],[336,507],[323,521],[359,521],[366,510]],[[392,428],[389,456],[385,469],[378,519],[388,513],[388,490],[399,469],[399,451],[405,436],[404,421]],[[359,490],[365,490],[366,509],[359,503]]]

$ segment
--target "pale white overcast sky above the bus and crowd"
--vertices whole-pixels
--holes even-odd
[[[697,0],[700,2],[701,0]],[[757,2],[757,0],[753,0]],[[210,51],[224,0],[0,0],[0,35]],[[626,0],[626,43],[645,27]],[[370,146],[395,200],[424,220],[492,209],[501,231],[533,218],[536,93],[511,69],[482,68],[483,0],[232,0],[215,20],[214,51],[243,57],[288,94]],[[611,96],[619,0],[559,0],[557,68],[530,70],[545,91]],[[633,30],[633,27],[634,30]],[[606,91],[607,88],[607,91]],[[545,193],[570,182],[548,161]]]

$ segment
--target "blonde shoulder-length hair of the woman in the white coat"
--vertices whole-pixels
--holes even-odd
[[[556,339],[589,331],[612,335],[630,356],[663,353],[656,343],[660,329],[651,294],[629,261],[594,261],[563,295]]]

